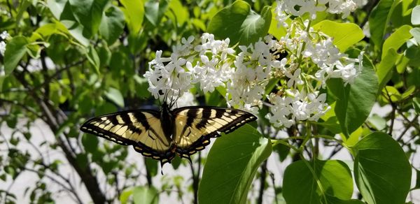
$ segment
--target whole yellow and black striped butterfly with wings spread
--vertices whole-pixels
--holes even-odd
[[[204,150],[210,138],[230,133],[255,119],[255,115],[234,108],[200,105],[170,110],[163,103],[160,111],[126,110],[94,117],[80,130],[120,145],[132,145],[163,166],[176,154],[191,161],[190,155]]]

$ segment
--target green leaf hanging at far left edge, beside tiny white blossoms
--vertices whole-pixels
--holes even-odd
[[[25,56],[27,52],[28,41],[24,36],[15,36],[6,44],[6,51],[4,52],[4,73],[6,76],[15,70],[20,59]]]

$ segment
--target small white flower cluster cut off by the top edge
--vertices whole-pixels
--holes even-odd
[[[326,10],[328,13],[342,14],[346,18],[356,8],[363,6],[364,0],[283,0],[276,1],[276,20],[287,27],[285,20],[288,15],[302,16],[309,13],[311,19],[316,18],[316,13]]]

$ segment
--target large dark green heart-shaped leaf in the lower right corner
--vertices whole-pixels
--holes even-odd
[[[391,136],[371,133],[351,150],[356,184],[367,203],[405,203],[412,170],[405,152]]]

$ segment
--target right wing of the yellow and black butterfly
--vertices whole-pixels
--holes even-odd
[[[256,119],[254,115],[233,108],[190,106],[177,108],[174,114],[176,153],[184,158],[203,150],[210,138],[230,133]]]

